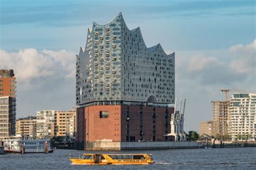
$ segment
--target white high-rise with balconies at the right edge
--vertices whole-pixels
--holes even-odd
[[[231,96],[228,110],[228,133],[232,140],[255,141],[255,106],[255,93],[237,93]]]

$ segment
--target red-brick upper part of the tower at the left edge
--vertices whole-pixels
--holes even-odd
[[[16,97],[16,77],[12,69],[0,69],[0,97]]]

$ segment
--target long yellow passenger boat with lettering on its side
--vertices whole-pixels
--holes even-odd
[[[149,165],[154,164],[151,154],[89,154],[69,158],[72,164],[83,165]]]

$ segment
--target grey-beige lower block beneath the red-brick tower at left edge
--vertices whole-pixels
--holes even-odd
[[[0,97],[0,139],[15,136],[16,99]]]

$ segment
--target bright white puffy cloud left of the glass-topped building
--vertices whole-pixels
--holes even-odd
[[[73,52],[28,48],[17,53],[0,49],[0,66],[14,69],[18,82],[42,77],[75,77],[76,55]]]

